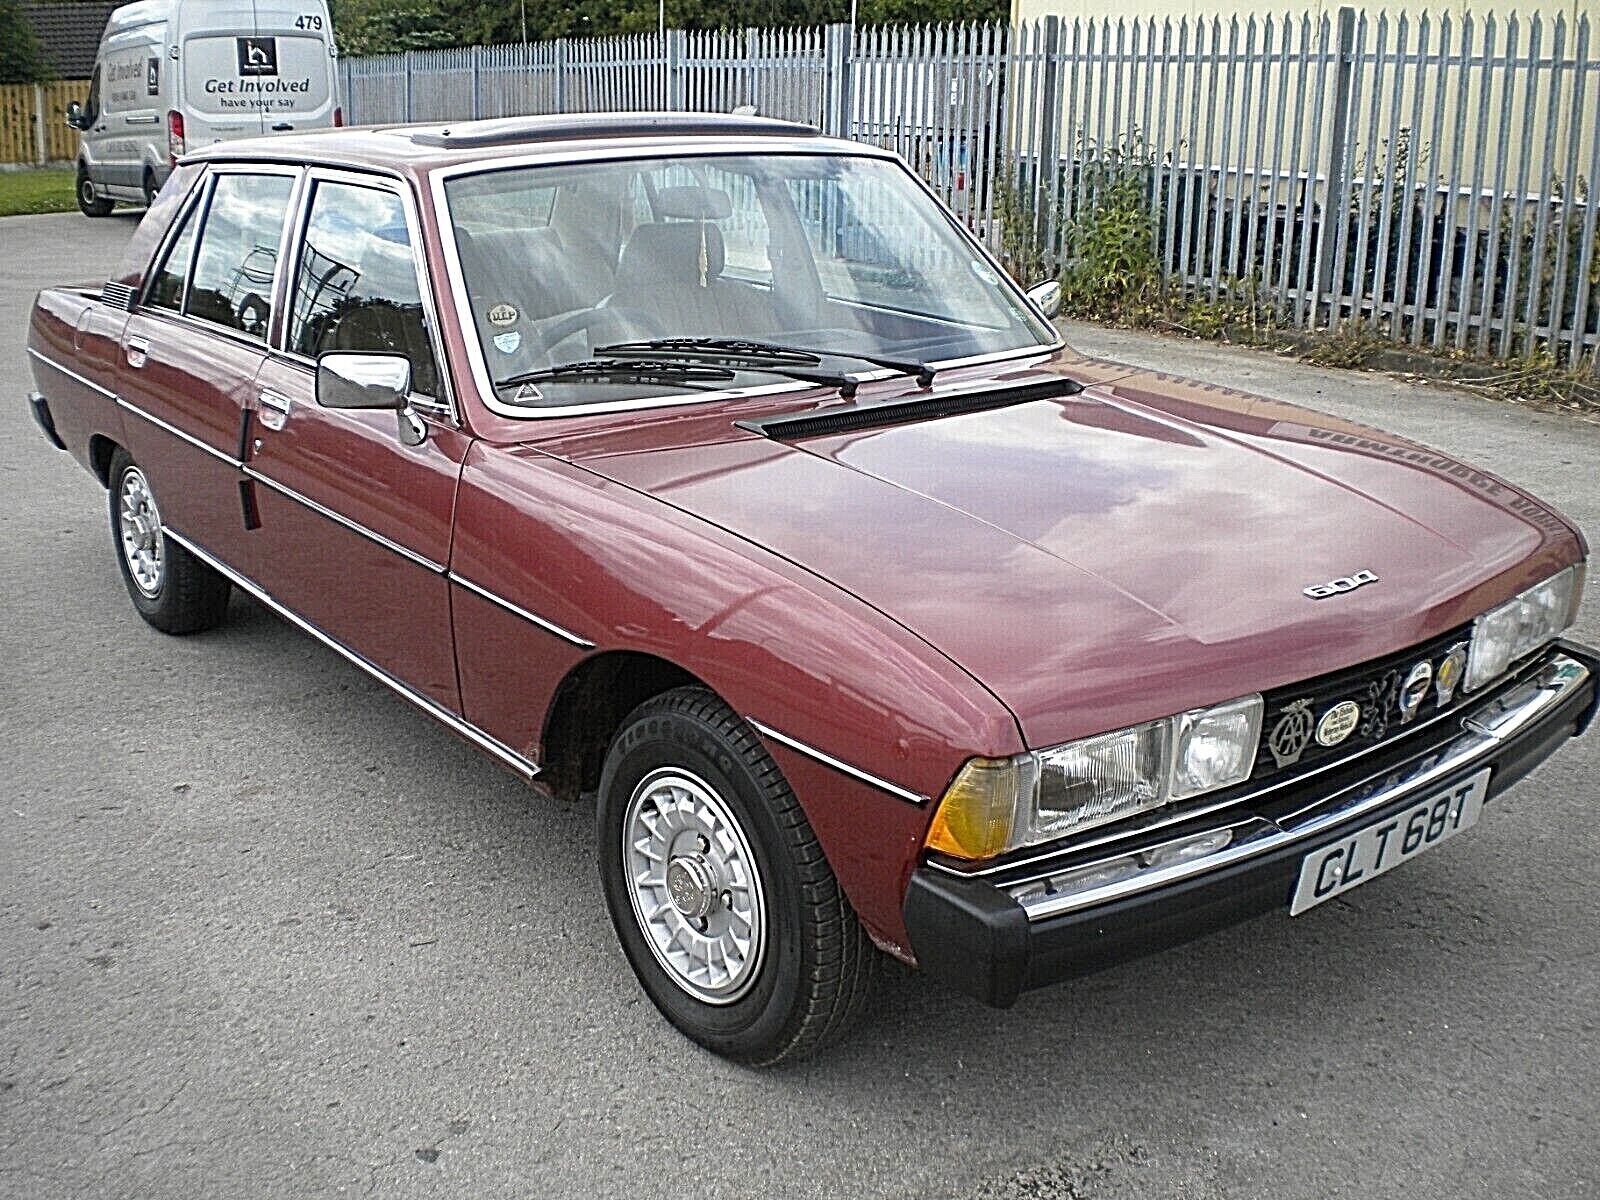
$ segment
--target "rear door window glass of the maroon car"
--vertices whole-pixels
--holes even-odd
[[[293,184],[286,174],[218,176],[186,314],[266,339],[278,235]]]

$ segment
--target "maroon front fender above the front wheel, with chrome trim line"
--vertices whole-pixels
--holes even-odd
[[[1022,749],[998,699],[885,614],[538,451],[474,446],[451,574],[467,720],[538,760],[550,701],[586,656],[682,667],[758,725],[851,904],[891,946],[931,797],[968,757]]]

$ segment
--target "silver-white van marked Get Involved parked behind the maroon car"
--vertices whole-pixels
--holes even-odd
[[[78,208],[149,203],[187,149],[341,125],[326,0],[139,0],[110,14],[67,107]]]

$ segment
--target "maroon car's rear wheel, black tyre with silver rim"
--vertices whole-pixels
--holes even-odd
[[[110,459],[110,533],[128,598],[163,634],[214,629],[229,582],[166,536],[150,480],[126,450]]]

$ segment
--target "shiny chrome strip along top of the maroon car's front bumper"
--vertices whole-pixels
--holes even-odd
[[[1323,834],[1334,826],[1344,824],[1346,821],[1360,818],[1363,813],[1371,813],[1394,803],[1395,800],[1402,800],[1410,794],[1421,792],[1451,774],[1470,771],[1475,765],[1504,746],[1507,739],[1526,728],[1531,722],[1539,720],[1550,709],[1562,704],[1576,688],[1582,686],[1587,678],[1589,667],[1578,659],[1558,653],[1536,675],[1514,685],[1496,701],[1498,712],[1491,722],[1480,722],[1477,715],[1462,720],[1459,734],[1456,734],[1443,747],[1427,750],[1414,758],[1410,768],[1395,768],[1395,773],[1386,771],[1344,789],[1344,794],[1352,797],[1350,800],[1334,805],[1333,808],[1326,808],[1294,826],[1264,824],[1261,834],[1234,842],[1222,850],[1189,859],[1187,862],[1174,862],[1166,867],[1149,867],[1131,877],[1086,886],[1078,891],[1062,891],[1045,896],[1043,899],[1024,906],[1027,918],[1030,922],[1037,922],[1048,917],[1059,917],[1066,912],[1094,907],[1096,904],[1109,904],[1141,891],[1150,891],[1195,875],[1203,875],[1258,854],[1283,850],[1285,846],[1293,846],[1296,842],[1309,840],[1317,834]],[[1398,774],[1398,778],[1389,779],[1384,786],[1376,787],[1371,792],[1363,792],[1373,779],[1390,774]],[[1235,824],[1237,822],[1224,822],[1224,826],[1219,827],[1230,827]],[[1029,883],[1048,880],[1053,874],[1086,870],[1102,862],[1109,864],[1117,859],[1136,856],[1149,848],[1149,845],[1134,850],[1123,848],[1117,854],[1106,859],[1098,859],[1094,862],[1075,862],[1070,867],[1061,867],[1058,872],[1008,880],[998,886],[1005,891],[1021,890]]]

